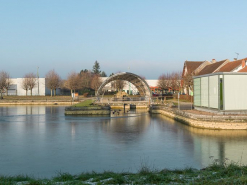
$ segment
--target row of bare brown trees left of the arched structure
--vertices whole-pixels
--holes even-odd
[[[46,87],[51,90],[51,96],[56,96],[56,90],[58,88],[64,88],[71,91],[71,93],[76,90],[82,89],[91,89],[96,91],[101,82],[100,77],[106,77],[104,71],[100,71],[100,65],[95,61],[92,71],[90,70],[81,70],[80,73],[70,72],[66,80],[62,80],[59,74],[56,71],[50,70],[46,75]],[[12,81],[9,73],[5,71],[0,72],[0,93],[1,98],[4,92],[8,95],[8,89],[11,86]],[[38,84],[38,77],[34,73],[25,74],[21,83],[21,87],[26,91],[26,96],[30,90],[31,96],[33,95],[33,88]]]

